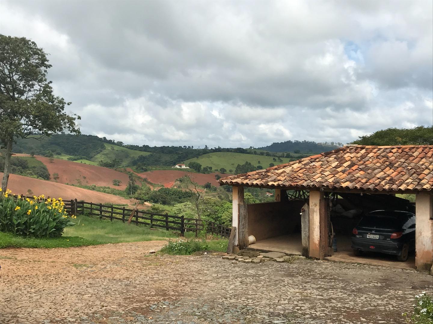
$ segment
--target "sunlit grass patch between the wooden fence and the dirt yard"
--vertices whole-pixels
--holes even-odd
[[[74,222],[77,224],[79,222],[79,225],[66,227],[64,235],[81,236],[91,241],[103,243],[157,241],[178,237],[178,235],[165,230],[150,229],[134,224],[128,225],[121,221],[110,222],[110,220],[100,220],[84,215],[77,216]]]

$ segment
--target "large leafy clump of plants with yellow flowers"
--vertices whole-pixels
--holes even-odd
[[[0,188],[1,190],[1,188]],[[45,200],[45,197],[33,196],[34,199],[18,196],[14,199],[9,190],[0,197],[0,231],[35,238],[60,237],[66,226],[73,226],[64,206],[58,200]],[[38,202],[42,199],[41,202]]]

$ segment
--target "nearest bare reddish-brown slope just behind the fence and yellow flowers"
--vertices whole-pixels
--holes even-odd
[[[0,172],[0,176],[3,177],[2,172]],[[130,203],[129,200],[125,198],[111,194],[104,194],[103,192],[97,192],[68,186],[67,184],[56,183],[53,181],[39,180],[13,174],[9,176],[8,189],[12,190],[13,194],[24,195],[30,189],[36,196],[44,194],[47,197],[61,197],[64,200],[77,198],[78,200],[84,200],[93,203]]]

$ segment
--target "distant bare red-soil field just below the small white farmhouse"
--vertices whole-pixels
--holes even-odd
[[[204,185],[206,182],[210,182],[214,186],[218,185],[218,182],[215,179],[215,175],[221,175],[220,173],[204,174],[204,173],[193,173],[187,171],[177,171],[177,170],[155,170],[155,171],[138,173],[137,175],[139,175],[142,178],[147,178],[147,180],[149,180],[150,182],[156,184],[163,184],[164,187],[169,188],[173,186],[176,179],[182,178],[186,174],[189,174],[191,176],[191,179],[197,182],[197,184]]]

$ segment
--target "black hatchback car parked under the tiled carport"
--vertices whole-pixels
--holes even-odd
[[[355,255],[364,251],[397,255],[406,261],[415,250],[415,215],[397,210],[376,210],[362,217],[352,231]]]

